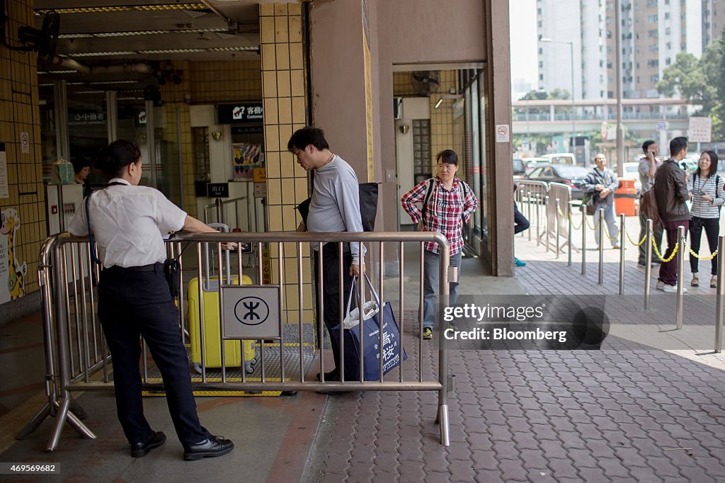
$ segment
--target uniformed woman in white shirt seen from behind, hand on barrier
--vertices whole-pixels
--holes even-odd
[[[141,162],[141,151],[135,143],[112,142],[95,163],[110,179],[109,187],[92,193],[87,205],[104,266],[98,311],[113,359],[118,418],[130,442],[131,456],[145,456],[164,444],[165,434],[154,432],[144,417],[138,371],[138,336],[142,335],[161,371],[184,459],[225,455],[233,449],[233,442],[212,436],[199,423],[178,309],[163,265],[166,252],[162,235],[181,229],[191,233],[215,230],[188,216],[160,191],[138,186]],[[88,235],[85,209],[78,210],[69,231]]]

